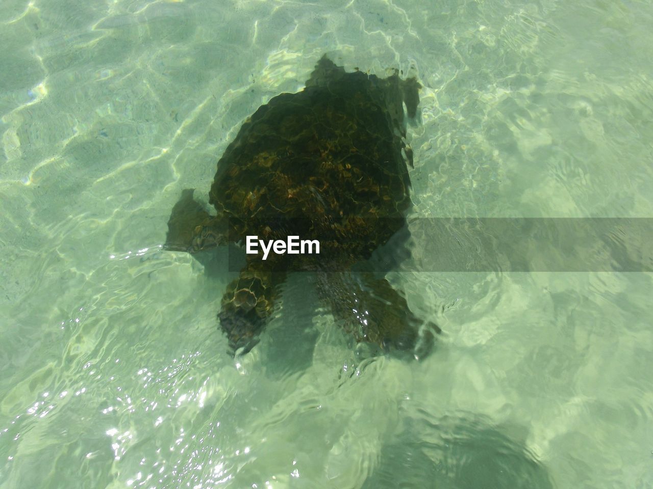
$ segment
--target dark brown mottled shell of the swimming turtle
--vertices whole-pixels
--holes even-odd
[[[210,190],[232,241],[310,235],[358,257],[385,243],[410,206],[404,102],[414,116],[418,89],[397,72],[345,72],[323,57],[304,90],[261,106],[219,160]]]

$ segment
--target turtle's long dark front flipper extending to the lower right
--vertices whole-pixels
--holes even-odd
[[[417,318],[385,278],[372,273],[321,273],[318,286],[336,319],[358,342],[419,359],[430,352],[434,333],[441,333],[438,325]]]

